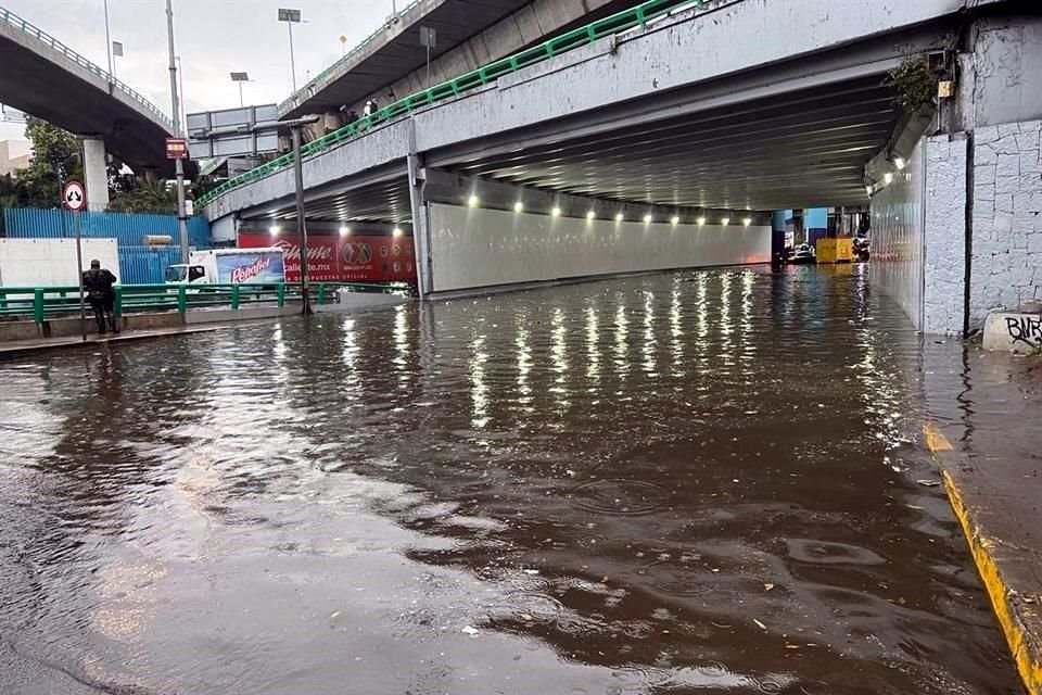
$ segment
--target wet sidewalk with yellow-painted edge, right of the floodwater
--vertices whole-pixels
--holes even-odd
[[[1042,695],[1042,358],[969,349],[962,364],[941,374],[927,356],[928,397],[953,397],[924,435],[1020,677]]]

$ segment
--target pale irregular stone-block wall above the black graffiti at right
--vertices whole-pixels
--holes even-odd
[[[1042,72],[1042,71],[1040,71]],[[1042,121],[977,128],[970,328],[1042,300]]]

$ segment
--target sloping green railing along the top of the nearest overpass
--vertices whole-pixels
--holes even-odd
[[[587,46],[594,41],[608,36],[613,36],[621,31],[626,31],[634,27],[644,26],[652,20],[662,17],[670,12],[683,7],[701,7],[703,0],[648,0],[634,8],[624,10],[611,16],[605,17],[587,24],[577,29],[572,29],[560,36],[544,41],[538,46],[525,49],[513,55],[500,59],[483,67],[460,75],[456,79],[450,79],[441,85],[434,85],[415,94],[409,94],[405,99],[399,99],[387,106],[377,111],[373,114],[350,123],[344,127],[333,130],[330,134],[312,140],[301,148],[302,159],[314,156],[326,152],[339,144],[347,142],[358,136],[369,132],[377,126],[390,123],[403,115],[412,113],[417,109],[428,106],[446,99],[453,99],[462,93],[472,91],[485,85],[492,84],[503,77],[516,73],[520,70],[550,60],[556,55],[561,55],[576,48]],[[258,179],[274,174],[293,164],[293,153],[287,153],[282,156],[268,162],[262,166],[250,169],[234,178],[230,178],[217,188],[201,195],[195,202],[198,205],[206,205],[217,200],[225,193],[240,186],[245,186]]]

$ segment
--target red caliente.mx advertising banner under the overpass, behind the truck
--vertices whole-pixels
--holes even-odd
[[[239,235],[240,249],[279,247],[287,282],[301,281],[301,249],[292,232],[272,240],[266,233]],[[416,280],[412,237],[308,235],[307,274],[313,282],[408,282]]]

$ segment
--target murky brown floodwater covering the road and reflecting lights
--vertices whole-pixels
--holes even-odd
[[[0,365],[0,692],[1019,693],[867,274]]]

